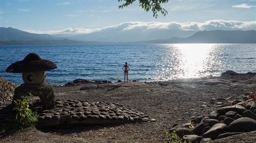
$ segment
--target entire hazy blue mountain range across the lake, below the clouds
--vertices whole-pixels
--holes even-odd
[[[160,43],[256,43],[256,31],[123,30],[126,25],[77,35],[33,34],[0,27],[0,45],[42,44],[160,44]]]

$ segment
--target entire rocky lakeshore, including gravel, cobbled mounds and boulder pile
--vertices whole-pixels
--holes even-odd
[[[17,87],[6,83],[1,86],[0,122],[11,122],[6,110]],[[78,79],[54,85],[54,92],[55,109],[41,109],[39,99],[33,107],[39,111],[39,126],[1,135],[1,141],[148,143],[167,141],[165,130],[176,130],[192,143],[256,142],[252,72],[163,82]]]

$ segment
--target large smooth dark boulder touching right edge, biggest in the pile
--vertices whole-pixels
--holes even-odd
[[[231,132],[251,132],[256,130],[256,121],[251,118],[243,117],[234,120],[228,128]]]

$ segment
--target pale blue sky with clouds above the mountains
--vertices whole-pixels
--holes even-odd
[[[82,34],[125,27],[182,30],[256,30],[256,0],[169,0],[164,17],[144,11],[139,0],[0,0],[0,27],[39,34]],[[171,25],[171,26],[170,26]]]

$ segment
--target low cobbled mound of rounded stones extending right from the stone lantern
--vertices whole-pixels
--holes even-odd
[[[110,102],[88,102],[68,100],[55,101],[55,108],[43,110],[38,115],[40,126],[58,124],[118,124],[148,122],[150,116],[121,104]]]

